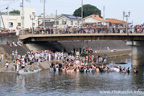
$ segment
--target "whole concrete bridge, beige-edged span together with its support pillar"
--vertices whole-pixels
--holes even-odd
[[[29,34],[19,35],[19,39],[25,43],[60,40],[127,40],[127,45],[132,47],[132,64],[144,63],[143,33]]]

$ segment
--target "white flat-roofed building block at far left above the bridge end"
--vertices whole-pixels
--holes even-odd
[[[21,15],[22,15],[22,11],[20,11],[19,15],[10,14],[8,16],[7,14],[2,14],[2,18],[0,20],[0,27],[4,28],[3,26],[3,22],[4,22],[6,29],[9,28],[11,30],[11,29],[16,29],[17,27],[21,28],[22,27]],[[35,17],[34,15],[35,15],[34,8],[24,8],[24,28],[32,28],[32,21],[33,21],[33,27],[38,26],[37,17]],[[3,22],[2,22],[2,19],[3,19]]]

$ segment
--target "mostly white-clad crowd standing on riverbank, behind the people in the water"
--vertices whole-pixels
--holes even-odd
[[[8,59],[8,53],[5,53],[6,60]],[[29,70],[27,69],[27,65],[33,65],[33,63],[37,63],[44,61],[58,61],[58,62],[71,62],[78,61],[80,65],[88,65],[88,63],[106,63],[107,56],[75,56],[73,54],[68,54],[64,52],[52,52],[50,50],[40,50],[40,51],[29,51],[25,55],[20,55],[17,50],[12,51],[10,54],[10,59],[12,62],[15,62],[15,70]],[[3,60],[3,54],[1,54],[1,62]],[[9,62],[6,61],[6,70],[8,70]]]

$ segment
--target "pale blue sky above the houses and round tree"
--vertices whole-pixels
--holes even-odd
[[[28,2],[27,2],[28,1]],[[22,0],[0,0],[0,11],[7,11],[5,8],[10,5],[10,10],[20,9]],[[24,0],[24,7],[35,8],[36,15],[43,13],[43,0]],[[91,4],[102,11],[105,6],[105,18],[123,20],[123,11],[126,14],[130,11],[128,22],[136,24],[144,23],[144,0],[83,0],[84,4]],[[75,9],[81,7],[81,0],[46,0],[46,15],[73,14]],[[126,19],[125,19],[126,20]]]

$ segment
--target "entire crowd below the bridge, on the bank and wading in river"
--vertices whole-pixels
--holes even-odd
[[[17,50],[13,51],[11,54],[11,60],[15,60],[15,71],[24,70],[33,71],[32,67],[27,67],[28,65],[33,65],[34,63],[36,69],[39,70],[39,62],[44,61],[56,61],[56,63],[51,63],[50,72],[123,72],[130,73],[130,68],[122,68],[121,66],[107,66],[107,56],[80,56],[78,53],[76,55],[66,54],[63,52],[52,52],[50,50],[40,50],[40,51],[29,51],[25,55],[19,55]],[[9,62],[6,61],[6,71],[9,69]],[[138,69],[134,68],[133,73],[138,73]]]

